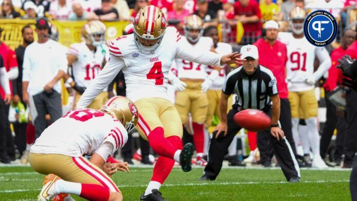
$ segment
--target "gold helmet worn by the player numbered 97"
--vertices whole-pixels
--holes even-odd
[[[197,15],[189,15],[184,21],[185,36],[191,43],[197,43],[203,35],[203,20]]]

